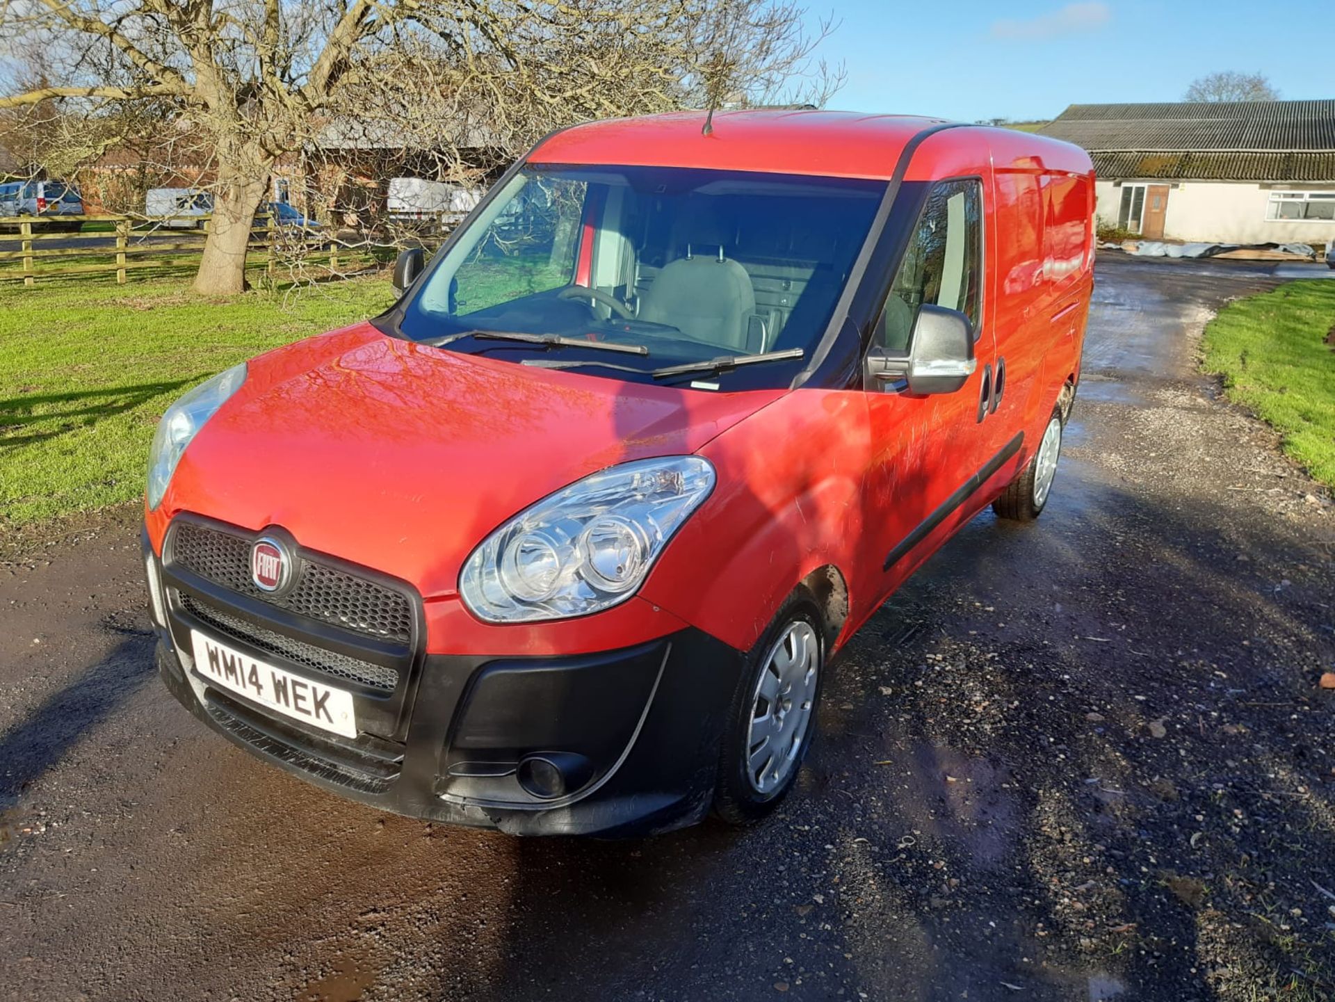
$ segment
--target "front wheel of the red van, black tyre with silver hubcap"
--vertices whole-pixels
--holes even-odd
[[[801,588],[746,655],[720,748],[718,818],[749,825],[792,790],[816,732],[824,668],[821,614]]]

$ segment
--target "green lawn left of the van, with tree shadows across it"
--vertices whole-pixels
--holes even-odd
[[[372,316],[384,279],[204,299],[188,279],[0,288],[0,528],[143,494],[154,426],[192,384]]]

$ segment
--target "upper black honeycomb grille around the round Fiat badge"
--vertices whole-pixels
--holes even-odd
[[[250,539],[210,526],[178,522],[172,530],[172,562],[200,578],[364,636],[413,643],[413,604],[402,592],[302,558],[291,590],[272,595],[251,580],[250,552]]]

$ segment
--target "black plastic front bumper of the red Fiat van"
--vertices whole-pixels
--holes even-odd
[[[158,567],[147,542],[146,559]],[[320,674],[308,656],[286,658],[272,644],[223,631],[219,620],[204,622],[198,611],[214,606],[199,603],[223,592],[190,575],[168,568],[163,584],[167,624],[159,627],[156,656],[172,695],[258,758],[342,797],[523,835],[650,834],[694,823],[709,810],[742,655],[702,631],[574,656],[418,654],[392,694],[375,694]],[[254,603],[231,598],[231,616],[255,616]],[[266,616],[262,630],[291,636],[294,622]],[[350,688],[358,720],[374,730],[343,738],[211,684],[195,670],[191,630]],[[559,766],[566,790],[538,797],[531,783],[526,789],[522,763],[534,758]]]

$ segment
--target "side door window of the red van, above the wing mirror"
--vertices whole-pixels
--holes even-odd
[[[979,332],[983,191],[976,179],[941,181],[928,193],[913,239],[894,275],[876,342],[892,354],[909,348],[924,303],[959,310]]]

